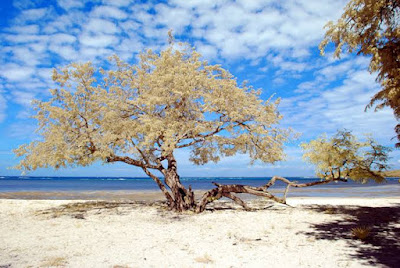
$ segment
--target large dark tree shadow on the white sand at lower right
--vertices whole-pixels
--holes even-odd
[[[308,209],[341,216],[340,220],[313,224],[305,233],[316,239],[344,239],[354,249],[349,255],[373,266],[400,267],[400,205],[387,207],[309,206]],[[355,227],[371,228],[370,235],[358,240]]]

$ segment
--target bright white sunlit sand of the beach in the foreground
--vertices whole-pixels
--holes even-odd
[[[306,206],[390,206],[395,213],[400,208],[396,198],[291,198],[288,203],[293,208],[274,205],[252,212],[238,208],[176,214],[135,206],[91,210],[84,219],[40,213],[67,203],[71,201],[0,200],[0,267],[384,266],[381,257],[360,253],[369,247],[375,253],[380,249],[353,239],[350,227],[340,229],[333,239],[324,237],[324,232],[318,236],[316,226],[357,223],[360,209],[347,215],[335,207],[317,211]],[[399,222],[391,220],[384,219],[398,230]],[[390,230],[385,236],[399,237]]]

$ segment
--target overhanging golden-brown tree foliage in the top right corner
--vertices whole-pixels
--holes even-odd
[[[335,44],[336,57],[343,49],[349,53],[372,56],[369,70],[377,72],[382,89],[372,97],[367,108],[390,107],[400,119],[400,1],[351,0],[342,15],[327,28],[320,43],[321,54],[329,42]],[[400,124],[395,127],[400,141]],[[396,144],[400,147],[400,142]]]

